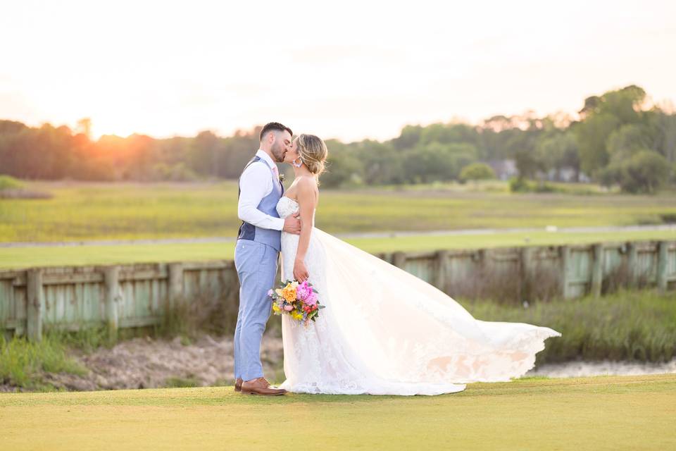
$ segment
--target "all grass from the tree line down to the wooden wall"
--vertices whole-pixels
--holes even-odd
[[[287,183],[288,184],[288,183]],[[671,230],[546,232],[546,226],[656,225],[676,216],[676,195],[630,196],[592,185],[563,192],[512,194],[506,183],[323,190],[316,226],[334,234],[420,232],[349,237],[367,252],[562,245],[674,239]],[[51,199],[0,199],[0,242],[87,242],[234,237],[237,184],[31,183]],[[535,232],[425,235],[432,230],[541,228]],[[234,242],[0,247],[0,267],[232,259]]]

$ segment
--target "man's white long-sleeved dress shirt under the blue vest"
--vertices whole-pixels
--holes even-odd
[[[265,214],[257,208],[263,197],[273,190],[282,192],[280,183],[275,183],[273,180],[273,178],[277,178],[275,175],[277,166],[270,155],[261,149],[258,149],[256,156],[260,156],[261,159],[244,169],[242,176],[239,178],[239,190],[241,192],[239,193],[239,202],[237,202],[237,216],[252,226],[282,230],[284,219]]]

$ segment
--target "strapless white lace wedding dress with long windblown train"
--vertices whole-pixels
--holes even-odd
[[[277,212],[299,211],[282,197]],[[299,235],[282,232],[282,280],[294,278]],[[544,340],[526,323],[474,319],[423,280],[318,228],[305,264],[320,310],[307,327],[282,315],[281,388],[295,393],[439,395],[509,381],[534,366]]]

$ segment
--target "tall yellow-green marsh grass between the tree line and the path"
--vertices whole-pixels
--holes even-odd
[[[0,242],[234,236],[239,227],[232,181],[28,185],[54,197],[0,199]],[[316,225],[329,233],[562,228],[655,224],[676,214],[673,192],[584,190],[511,194],[501,182],[322,190]]]

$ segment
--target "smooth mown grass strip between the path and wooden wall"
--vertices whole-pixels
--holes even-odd
[[[367,252],[475,249],[485,247],[581,244],[627,240],[676,240],[676,232],[606,233],[514,232],[477,235],[412,235],[387,238],[349,238]],[[0,268],[77,266],[153,261],[206,261],[234,256],[234,242],[192,244],[84,245],[65,247],[0,247]]]

